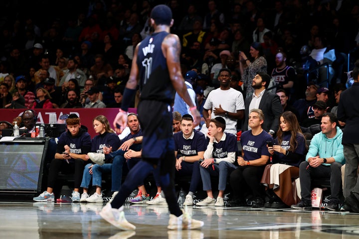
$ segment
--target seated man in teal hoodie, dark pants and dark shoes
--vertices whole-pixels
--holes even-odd
[[[342,190],[341,167],[345,164],[342,136],[338,126],[338,119],[332,113],[325,113],[322,117],[322,132],[317,133],[311,140],[306,161],[299,165],[299,179],[301,183],[302,200],[293,209],[311,209],[311,179],[330,178],[331,198],[326,210],[339,209],[339,194]]]

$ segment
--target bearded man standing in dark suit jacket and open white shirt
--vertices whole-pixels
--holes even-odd
[[[269,82],[270,76],[267,73],[258,72],[257,75],[254,76],[252,82],[252,87],[254,88],[253,95],[252,97],[247,97],[244,102],[243,131],[251,129],[248,125],[249,112],[253,109],[260,109],[265,119],[262,128],[272,136],[277,132],[279,117],[283,109],[279,96],[266,90]]]

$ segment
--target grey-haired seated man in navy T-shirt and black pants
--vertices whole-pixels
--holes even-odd
[[[239,167],[230,174],[234,196],[227,207],[250,204],[253,208],[259,208],[264,205],[265,188],[260,181],[270,156],[267,141],[273,142],[273,138],[263,130],[263,122],[263,112],[259,109],[251,110],[248,117],[251,130],[244,131],[241,135],[242,156],[237,157]],[[248,195],[253,198],[249,204],[245,202]]]

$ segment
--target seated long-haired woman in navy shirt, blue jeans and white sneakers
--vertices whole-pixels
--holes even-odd
[[[104,146],[107,148],[119,148],[120,147],[120,139],[115,133],[115,131],[110,127],[110,122],[108,119],[103,116],[97,116],[92,120],[93,128],[98,135],[93,137],[91,140],[91,152],[95,153],[99,158],[103,158],[103,164],[100,165],[98,163],[93,164],[93,162],[89,161],[85,166],[84,173],[82,176],[81,187],[83,188],[83,193],[81,195],[80,202],[89,202],[89,203],[102,203],[102,194],[101,194],[101,182],[102,182],[102,173],[111,173],[112,172],[112,162],[111,156],[108,154],[104,154]],[[86,155],[87,159],[90,159],[88,153]],[[121,170],[122,175],[122,170]],[[90,185],[90,181],[92,178],[92,185],[96,186],[96,192],[89,196],[88,189]],[[116,180],[117,175],[112,172],[112,180]],[[119,180],[121,180],[120,177]],[[114,183],[113,183],[114,184]],[[115,185],[113,185],[115,186]],[[112,187],[113,187],[112,186]],[[118,190],[117,190],[118,191]]]

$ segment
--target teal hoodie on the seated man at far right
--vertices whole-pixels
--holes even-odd
[[[333,138],[328,138],[322,132],[314,135],[309,145],[309,150],[306,156],[308,158],[318,156],[321,158],[333,157],[336,162],[345,164],[343,144],[342,144],[343,131],[337,126],[337,134]],[[330,165],[330,163],[324,163]]]

